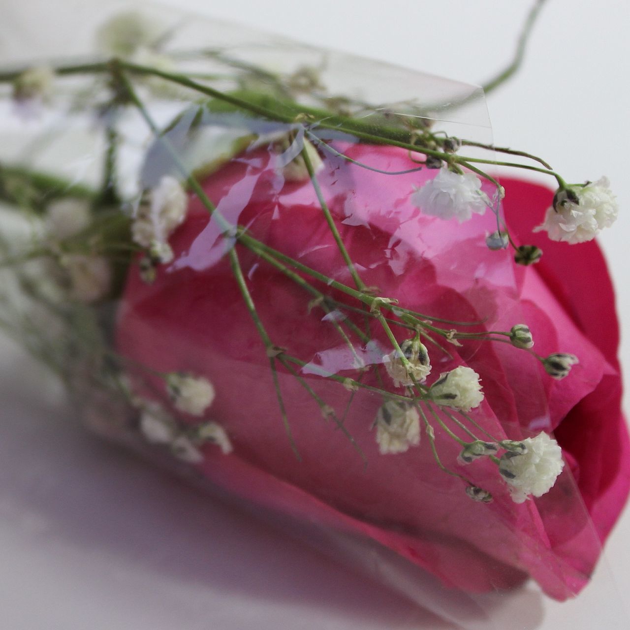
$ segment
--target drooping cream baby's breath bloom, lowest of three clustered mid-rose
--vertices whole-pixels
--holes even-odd
[[[410,404],[387,401],[376,415],[376,442],[381,455],[404,453],[420,444],[420,416]]]

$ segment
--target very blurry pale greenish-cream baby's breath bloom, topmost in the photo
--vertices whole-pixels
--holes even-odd
[[[99,52],[115,57],[131,57],[142,48],[154,48],[164,36],[164,27],[139,11],[118,13],[96,31]]]

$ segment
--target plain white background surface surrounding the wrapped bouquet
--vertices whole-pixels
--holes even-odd
[[[469,83],[480,83],[503,66],[530,6],[529,0],[165,4]],[[624,0],[549,0],[522,71],[488,100],[496,144],[540,154],[570,181],[603,174],[612,181],[621,216],[601,242],[617,285],[626,384],[628,6]],[[37,12],[29,14],[25,3],[0,0],[0,22],[20,16],[37,20]],[[0,350],[2,627],[451,627],[84,435],[38,367],[12,347]],[[626,511],[606,553],[621,593],[630,588],[629,536]],[[581,598],[549,605],[539,627],[600,627],[598,611],[614,609],[618,599],[602,564]],[[518,619],[503,619],[501,626],[525,627]],[[625,626],[619,622],[614,627]]]

